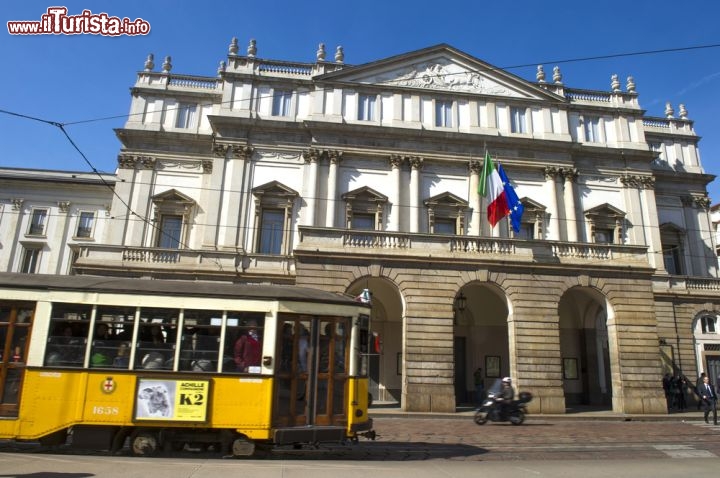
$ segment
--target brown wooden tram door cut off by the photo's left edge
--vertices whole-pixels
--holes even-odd
[[[0,417],[17,417],[30,346],[32,303],[0,301]]]

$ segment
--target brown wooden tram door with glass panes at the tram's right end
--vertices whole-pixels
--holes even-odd
[[[344,425],[349,320],[288,318],[278,330],[273,426]]]

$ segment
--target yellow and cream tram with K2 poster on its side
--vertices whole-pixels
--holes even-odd
[[[0,273],[0,438],[236,456],[373,438],[369,315],[294,286]]]

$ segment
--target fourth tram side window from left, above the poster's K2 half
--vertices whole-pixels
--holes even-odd
[[[180,339],[180,370],[217,372],[221,311],[185,310]]]

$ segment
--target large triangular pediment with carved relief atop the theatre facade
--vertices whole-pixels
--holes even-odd
[[[531,82],[444,44],[347,67],[315,79],[512,98],[560,99]]]

